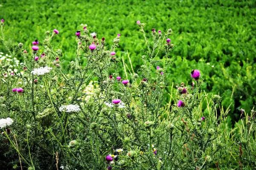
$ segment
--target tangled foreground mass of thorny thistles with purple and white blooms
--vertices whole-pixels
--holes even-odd
[[[195,82],[177,85],[169,104],[163,105],[169,86],[166,68],[175,48],[169,39],[172,29],[152,29],[151,42],[145,24],[137,21],[137,25],[147,47],[143,65],[137,73],[131,65],[123,78],[119,64],[128,66],[115,52],[120,34],[109,47],[105,38],[98,40],[86,27],[76,31],[76,58],[64,67],[61,50],[53,44],[58,30],[46,31],[45,39],[33,41],[32,50],[26,51],[22,43],[5,40],[1,22],[0,40],[11,58],[0,68],[1,167],[256,168],[255,111],[250,115],[242,111],[243,119],[230,127],[228,110],[219,105],[221,97],[201,91],[198,70],[191,72]],[[163,59],[157,60],[159,56]],[[23,60],[20,66],[15,62],[18,57]],[[93,84],[92,79],[97,81]]]

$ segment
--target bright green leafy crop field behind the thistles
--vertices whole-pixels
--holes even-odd
[[[105,37],[108,44],[120,33],[117,56],[123,55],[129,63],[128,49],[135,71],[143,54],[135,51],[145,47],[140,32],[136,31],[139,29],[136,21],[147,24],[148,37],[151,28],[172,28],[171,39],[175,44],[172,56],[176,59],[168,73],[170,84],[187,82],[189,71],[200,69],[206,82],[203,89],[220,92],[226,108],[232,102],[230,113],[234,120],[240,116],[239,107],[250,112],[256,102],[254,0],[3,0],[1,4],[6,38],[23,42],[27,50],[33,40],[44,39],[44,31],[56,28],[60,31],[56,45],[62,49],[63,58],[72,60],[75,32],[82,29],[83,23],[89,31],[96,31],[98,38]],[[5,51],[3,46],[0,51]]]

